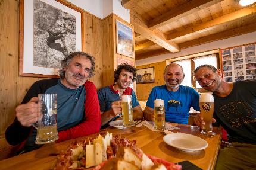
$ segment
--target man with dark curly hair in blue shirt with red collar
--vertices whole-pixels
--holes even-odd
[[[136,98],[135,92],[129,87],[136,79],[136,68],[127,63],[119,65],[114,72],[114,84],[98,91],[99,105],[101,107],[101,128],[105,128],[111,121],[120,117],[121,95],[132,95],[132,108],[134,120],[143,117],[143,111]]]

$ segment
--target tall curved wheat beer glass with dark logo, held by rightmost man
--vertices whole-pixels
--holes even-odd
[[[204,118],[204,129],[201,130],[202,134],[207,134],[207,136],[213,136],[212,118],[214,111],[214,98],[213,95],[208,93],[203,93],[199,98],[200,111],[202,117]]]

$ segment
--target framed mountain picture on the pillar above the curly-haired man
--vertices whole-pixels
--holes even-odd
[[[117,54],[134,58],[133,28],[116,20]]]

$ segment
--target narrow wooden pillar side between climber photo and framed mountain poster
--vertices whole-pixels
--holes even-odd
[[[102,50],[102,86],[108,86],[114,82],[114,33],[113,14],[108,15],[102,21],[103,27],[103,50]]]

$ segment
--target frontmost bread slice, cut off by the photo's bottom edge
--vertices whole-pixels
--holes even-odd
[[[139,168],[123,159],[111,158],[101,167],[101,170],[139,170]]]

